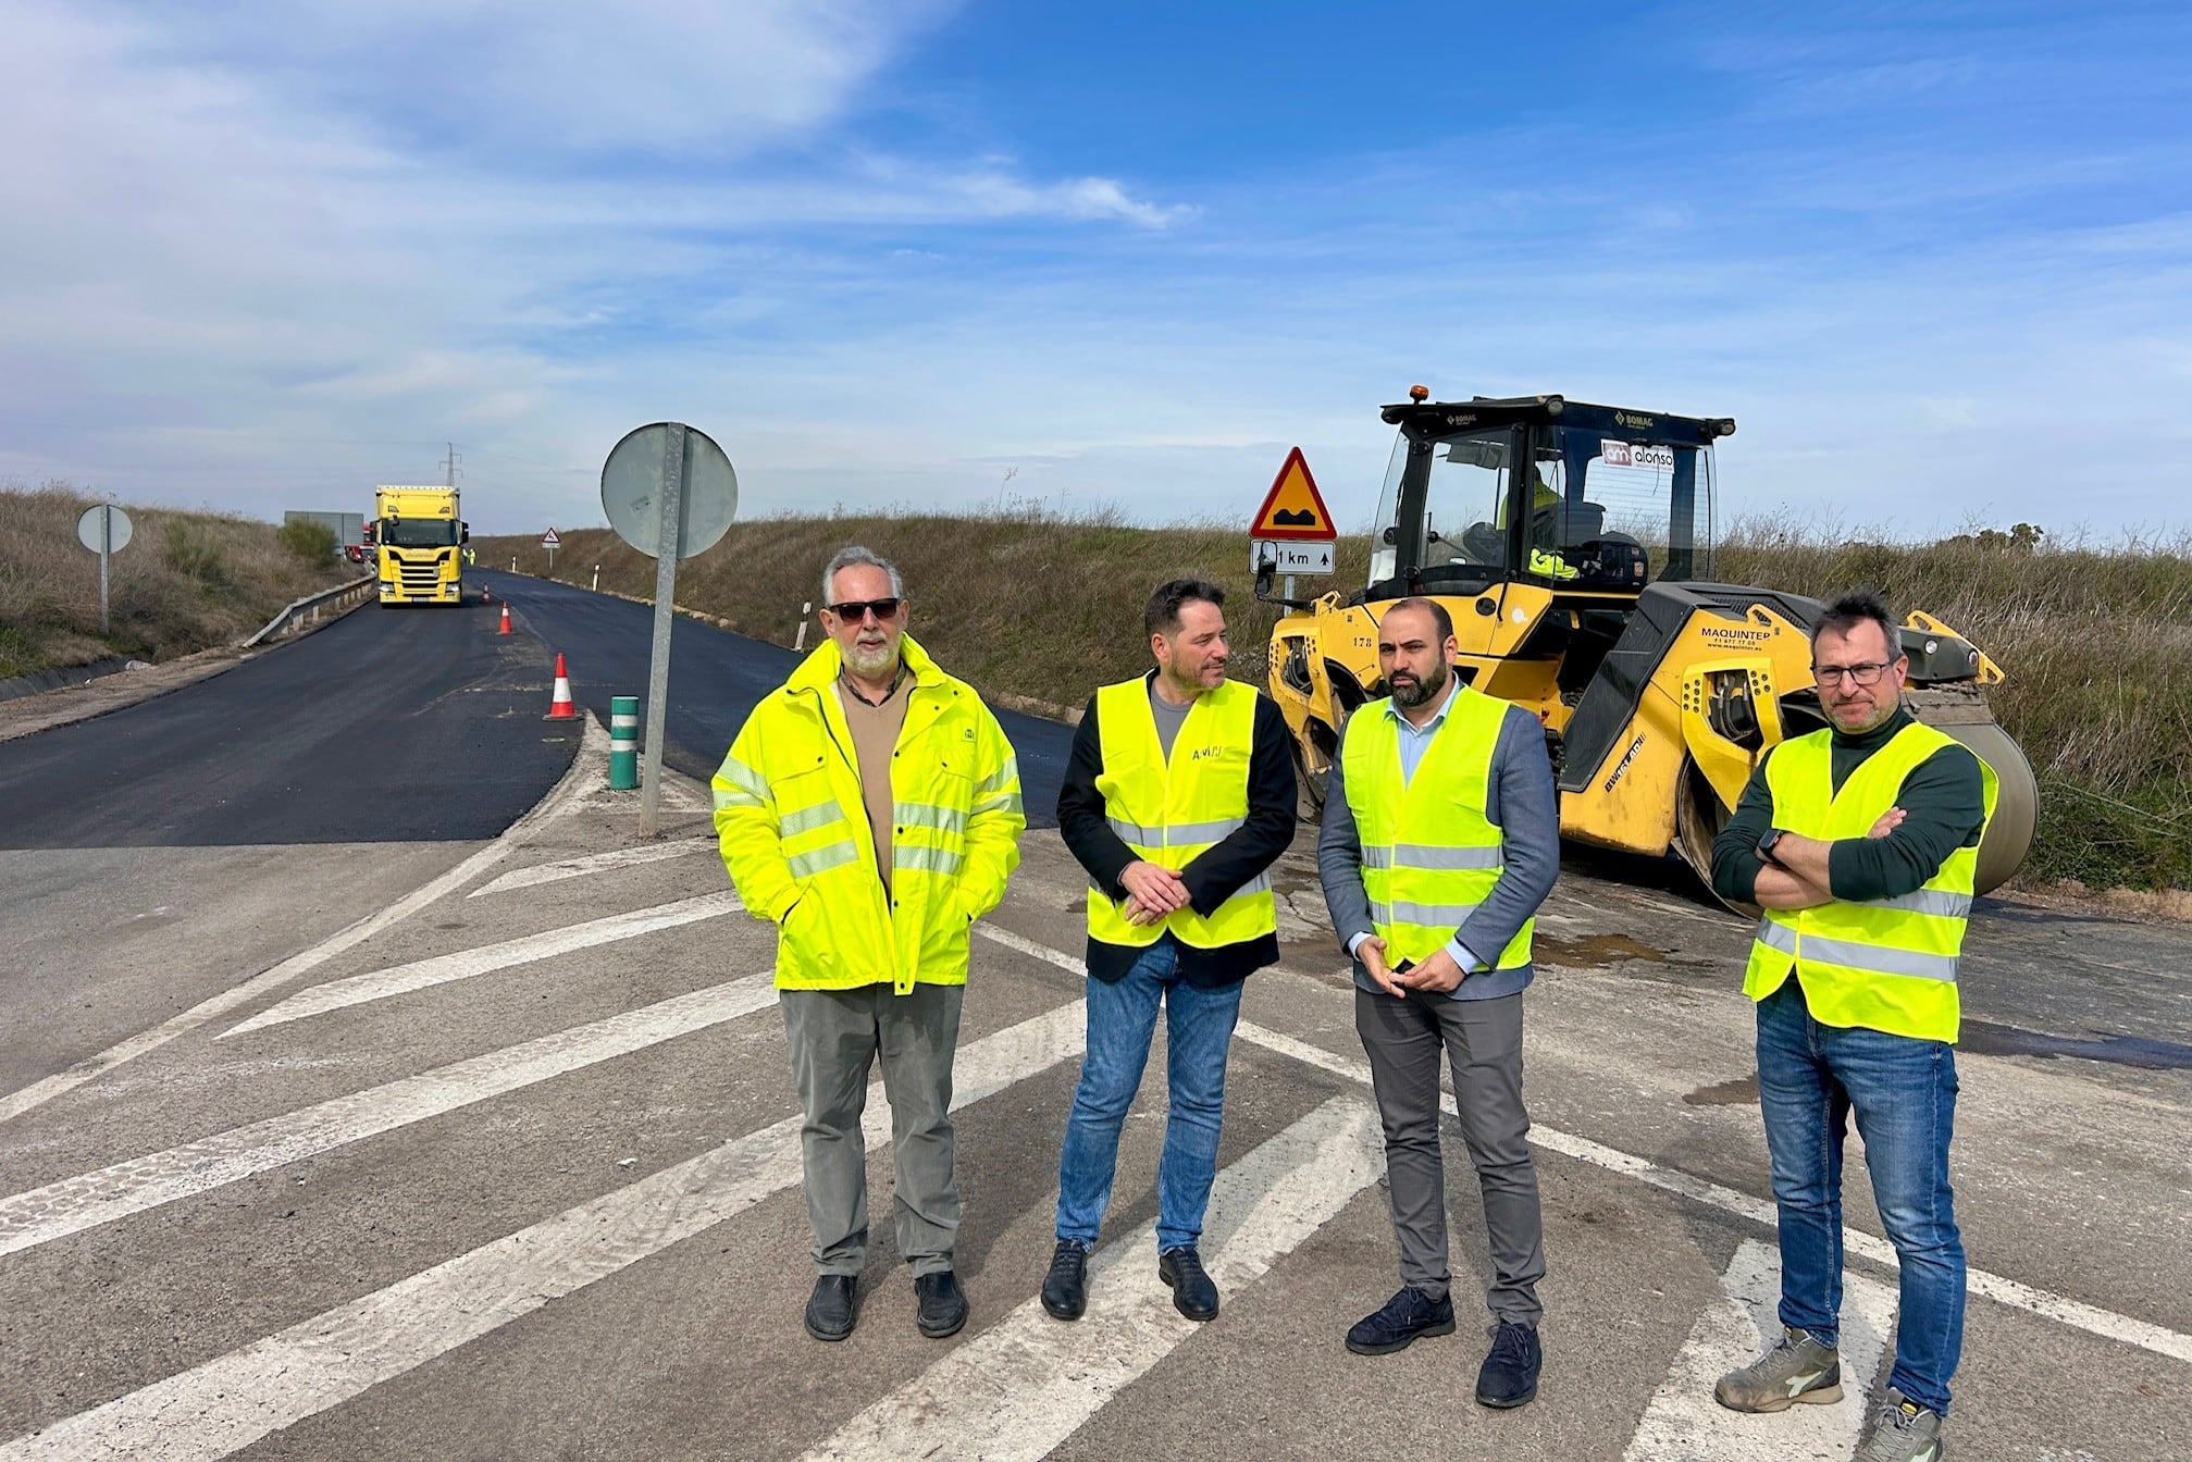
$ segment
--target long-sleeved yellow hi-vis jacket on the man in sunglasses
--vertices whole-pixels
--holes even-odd
[[[824,640],[754,706],[715,774],[715,833],[739,899],[780,925],[776,986],[844,991],[967,982],[967,927],[1019,866],[1019,763],[962,679],[901,638],[914,677],[890,761],[890,901],[859,758]]]

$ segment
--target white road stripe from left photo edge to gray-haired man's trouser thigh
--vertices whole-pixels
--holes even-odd
[[[79,1230],[173,1203],[239,1177],[278,1168],[346,1142],[423,1122],[489,1096],[548,1081],[585,1065],[673,1041],[776,1004],[772,975],[747,975],[572,1026],[537,1041],[335,1096],[263,1122],[235,1127],[96,1173],[66,1177],[0,1199],[0,1254],[15,1254]]]

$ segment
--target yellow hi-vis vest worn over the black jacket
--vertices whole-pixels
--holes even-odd
[[[1173,756],[1157,741],[1157,712],[1149,708],[1149,679],[1127,679],[1096,693],[1096,736],[1103,772],[1105,822],[1157,868],[1186,868],[1199,853],[1247,822],[1247,765],[1256,741],[1256,688],[1228,679],[1195,697]],[[1157,923],[1129,923],[1122,903],[1089,892],[1089,938],[1105,945],[1155,945],[1171,932],[1181,945],[1221,949],[1278,932],[1271,875],[1258,872],[1208,918],[1192,907]]]

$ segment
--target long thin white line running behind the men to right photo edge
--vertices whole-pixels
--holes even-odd
[[[991,938],[1008,949],[1019,949],[1021,953],[1057,964],[1059,969],[1070,969],[1081,975],[1087,973],[1087,964],[1083,964],[1070,953],[1050,949],[1048,945],[1037,945],[1035,940],[1021,938],[1019,934],[1011,934],[1006,929],[993,929],[986,923],[978,923],[973,929],[984,938]],[[1258,980],[1274,980],[1274,978],[1298,980],[1306,993],[1326,997],[1333,993],[1313,980],[1287,971],[1269,971],[1258,975]],[[1322,1046],[1298,1041],[1289,1035],[1280,1035],[1278,1030],[1269,1030],[1254,1021],[1241,1021],[1234,1035],[1245,1041],[1254,1041],[1256,1046],[1263,1046],[1267,1050],[1274,1050],[1282,1056],[1291,1056],[1306,1065],[1333,1072],[1335,1076],[1346,1076],[1348,1081],[1361,1083],[1366,1087],[1370,1085],[1368,1061],[1357,1061],[1352,1056],[1328,1052]],[[1451,1094],[1440,1094],[1440,1105],[1447,1109],[1449,1116],[1453,1113]],[[1578,1138],[1574,1133],[1565,1133],[1554,1127],[1530,1127],[1530,1142],[1550,1149],[1554,1153],[1561,1153],[1563,1157],[1589,1162],[1611,1173],[1622,1173],[1637,1181],[1651,1184],[1653,1188],[1664,1188],[1666,1192],[1686,1197],[1690,1201],[1708,1203],[1723,1212],[1732,1212],[1738,1219],[1749,1219],[1751,1223],[1758,1223],[1767,1230],[1776,1227],[1778,1223],[1773,1203],[1767,1199],[1754,1199],[1747,1192],[1723,1188],[1721,1184],[1705,1181],[1703,1177],[1692,1177],[1675,1168],[1662,1168],[1648,1157],[1637,1157],[1635,1153],[1624,1153],[1602,1142],[1591,1142],[1589,1138]],[[1887,1265],[1890,1269],[1896,1267],[1896,1249],[1885,1238],[1865,1234],[1863,1230],[1843,1227],[1841,1245],[1846,1252],[1870,1258],[1876,1265]],[[2034,1289],[2032,1284],[2025,1284],[2021,1280],[2010,1280],[1999,1273],[1990,1273],[1986,1269],[1966,1269],[1964,1289],[1997,1304],[2008,1304],[2012,1309],[2021,1309],[2032,1315],[2067,1324],[2076,1330],[2087,1330],[2089,1335],[2100,1335],[2102,1339],[2115,1339],[2126,1346],[2137,1346],[2139,1350],[2153,1350],[2155,1355],[2166,1355],[2170,1359],[2185,1361],[2188,1366],[2192,1366],[2192,1335],[2183,1335],[2181,1330],[2170,1330],[2166,1326],[2153,1324],[2148,1320],[2137,1320],[2133,1315],[2104,1311],[2098,1304],[2085,1304],[2082,1300],[2071,1300],[2069,1295]]]

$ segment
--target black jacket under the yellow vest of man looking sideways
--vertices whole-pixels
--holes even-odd
[[[1149,675],[1155,675],[1151,671]],[[1144,677],[1149,679],[1149,677]],[[1096,776],[1103,772],[1103,736],[1096,730],[1096,697],[1089,697],[1074,730],[1074,754],[1065,765],[1065,785],[1059,787],[1059,835],[1089,881],[1103,896],[1124,899],[1127,888],[1118,875],[1135,859],[1111,824],[1105,822],[1103,793],[1096,791]],[[1203,848],[1195,861],[1181,868],[1188,883],[1188,905],[1210,916],[1243,883],[1278,861],[1278,855],[1293,842],[1293,739],[1287,732],[1287,717],[1269,695],[1256,695],[1256,743],[1247,761],[1247,822],[1228,833],[1221,842]],[[1100,896],[1089,890],[1089,896]],[[1116,984],[1140,958],[1135,945],[1107,945],[1089,938],[1089,973],[1105,984]],[[1234,984],[1252,969],[1278,964],[1278,934],[1263,934],[1238,945],[1219,949],[1179,947],[1179,978],[1188,984]]]

